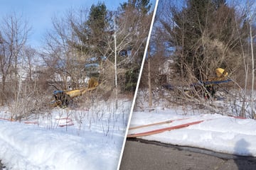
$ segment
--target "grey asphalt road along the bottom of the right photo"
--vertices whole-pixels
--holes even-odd
[[[255,157],[127,140],[120,170],[254,170]]]

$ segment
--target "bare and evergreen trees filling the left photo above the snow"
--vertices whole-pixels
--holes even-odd
[[[47,108],[54,90],[80,89],[90,77],[100,82],[92,98],[134,93],[149,34],[149,0],[127,1],[116,11],[98,2],[53,17],[41,49],[28,44],[31,26],[9,13],[0,21],[1,106],[16,120]]]

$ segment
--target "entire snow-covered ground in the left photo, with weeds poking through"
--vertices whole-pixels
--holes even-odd
[[[54,109],[21,123],[0,120],[6,169],[117,169],[132,101]],[[0,118],[9,118],[2,108]]]

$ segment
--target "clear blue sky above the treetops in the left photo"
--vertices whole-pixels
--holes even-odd
[[[127,0],[102,0],[109,10],[116,10],[124,1]],[[97,3],[98,0],[0,0],[0,21],[2,16],[14,12],[18,16],[22,15],[32,26],[28,42],[32,43],[32,47],[38,47],[41,45],[41,39],[46,30],[52,26],[53,16],[62,16],[70,8],[90,9],[92,4]]]

